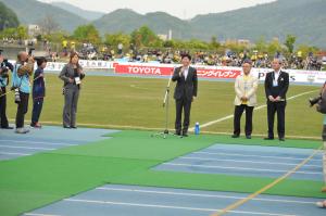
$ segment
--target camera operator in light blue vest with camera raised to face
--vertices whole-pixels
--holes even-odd
[[[28,98],[30,93],[29,78],[34,72],[34,58],[27,52],[20,52],[17,62],[13,69],[12,86],[15,89],[15,102],[17,103],[16,134],[29,132],[24,128],[24,118],[28,110]]]

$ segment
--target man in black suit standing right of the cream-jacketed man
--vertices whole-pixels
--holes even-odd
[[[267,73],[265,79],[265,92],[267,98],[268,137],[274,139],[274,117],[277,112],[278,139],[285,141],[285,109],[287,105],[286,93],[289,88],[289,74],[281,71],[281,60],[274,59],[273,72]]]

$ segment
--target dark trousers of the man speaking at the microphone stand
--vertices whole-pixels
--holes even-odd
[[[186,98],[181,98],[175,100],[176,104],[176,117],[175,117],[175,132],[176,134],[187,134],[190,123],[190,110],[191,110],[191,100]],[[183,118],[183,111],[184,111],[184,124],[181,128],[181,118]]]

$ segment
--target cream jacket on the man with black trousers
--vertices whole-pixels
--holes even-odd
[[[256,90],[258,90],[258,78],[252,76],[251,74],[248,75],[247,84],[244,84],[244,75],[240,75],[236,78],[235,82],[235,91],[236,91],[236,99],[235,105],[241,105],[242,97],[248,98],[247,105],[248,106],[255,106],[256,105]]]

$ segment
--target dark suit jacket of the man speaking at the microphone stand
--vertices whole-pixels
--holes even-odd
[[[198,89],[198,78],[197,78],[197,69],[195,67],[189,67],[187,79],[185,79],[184,75],[179,75],[181,67],[175,68],[172,80],[177,81],[174,91],[174,99],[180,100],[186,98],[187,100],[192,100],[192,97],[197,97]]]

